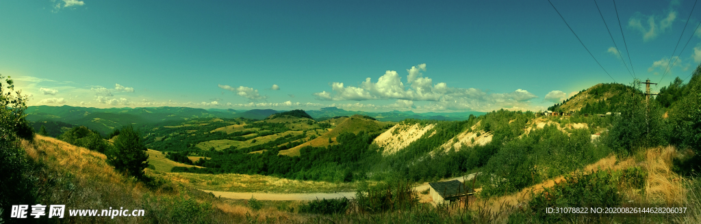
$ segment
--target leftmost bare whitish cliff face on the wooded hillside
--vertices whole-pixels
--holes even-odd
[[[382,155],[392,155],[421,138],[423,134],[426,134],[426,132],[431,130],[434,126],[434,124],[407,125],[400,123],[380,134],[373,143],[384,148]],[[433,133],[435,134],[435,132]]]

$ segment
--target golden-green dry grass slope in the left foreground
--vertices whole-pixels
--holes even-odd
[[[61,220],[65,223],[246,223],[247,214],[294,223],[299,223],[302,218],[274,208],[255,211],[164,179],[138,182],[115,172],[105,162],[104,154],[50,137],[36,135],[34,141],[22,141],[22,148],[34,164],[32,175],[38,177],[36,203],[65,204],[66,214]],[[144,209],[144,216],[115,216],[114,219],[109,216],[68,216],[69,209],[101,211],[110,207]],[[43,216],[36,222],[52,221],[56,219]]]

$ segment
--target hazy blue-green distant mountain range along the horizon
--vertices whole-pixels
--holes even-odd
[[[139,108],[109,108],[97,109],[79,106],[29,106],[27,120],[34,123],[61,122],[70,125],[83,125],[96,130],[103,135],[123,125],[149,125],[168,121],[189,120],[196,118],[247,118],[263,120],[269,116],[284,111],[271,109],[253,109],[249,111],[233,109],[196,109],[189,107],[139,107]],[[479,116],[484,112],[460,113],[414,113],[413,111],[365,112],[346,111],[336,107],[310,110],[306,113],[315,120],[327,120],[337,116],[353,116],[355,114],[370,116],[379,121],[398,122],[407,118],[420,120],[465,120],[470,114]],[[41,125],[39,125],[41,126]],[[65,126],[65,125],[62,125]],[[56,133],[47,127],[49,132]]]

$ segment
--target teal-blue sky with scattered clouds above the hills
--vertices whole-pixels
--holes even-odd
[[[29,105],[98,108],[538,111],[631,83],[594,2],[552,3],[611,77],[547,1],[0,1],[0,73]],[[616,1],[637,78],[701,62],[694,3]]]

